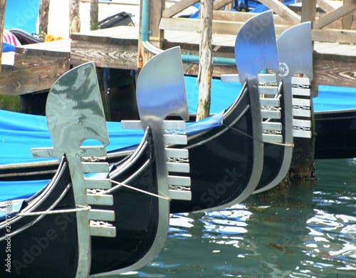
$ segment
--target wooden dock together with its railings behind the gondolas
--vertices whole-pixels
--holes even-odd
[[[140,0],[142,4],[143,0]],[[199,54],[199,19],[178,18],[199,0],[150,1],[150,43],[161,49],[180,46],[182,53]],[[212,46],[214,56],[234,58],[239,28],[253,14],[224,11],[232,0],[214,1]],[[356,0],[302,0],[288,9],[277,0],[262,0],[273,9],[277,36],[300,21],[312,21],[314,41],[314,90],[318,85],[356,87]],[[317,9],[315,9],[317,6]],[[315,13],[310,11],[315,10]],[[6,96],[27,96],[46,92],[70,67],[94,61],[98,68],[137,70],[148,51],[140,41],[141,26],[72,34],[70,40],[37,43],[4,53],[0,92]],[[197,75],[198,65],[184,63],[184,71]],[[236,73],[235,66],[214,65],[213,76]]]

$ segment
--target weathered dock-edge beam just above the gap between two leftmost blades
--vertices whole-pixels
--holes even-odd
[[[120,45],[88,41],[72,41],[70,63],[78,66],[93,61],[101,68],[137,69],[137,44]]]

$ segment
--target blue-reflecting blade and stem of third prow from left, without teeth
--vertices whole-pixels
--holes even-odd
[[[278,73],[278,51],[276,33],[273,24],[273,12],[265,11],[246,21],[241,27],[235,41],[235,59],[241,83],[248,84],[251,103],[258,109],[252,110],[255,122],[261,123],[260,94],[258,91],[258,73],[271,68]],[[253,173],[248,182],[248,187],[253,189],[258,185],[263,169],[263,142],[261,125],[253,125],[253,148],[258,153],[259,159],[253,163]]]

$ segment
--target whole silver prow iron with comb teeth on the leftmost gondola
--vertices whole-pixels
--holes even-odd
[[[73,183],[75,205],[112,205],[112,196],[87,194],[88,188],[103,189],[108,180],[89,180],[87,173],[108,173],[108,163],[83,163],[88,155],[107,155],[109,144],[103,103],[94,63],[85,63],[63,74],[48,93],[46,118],[53,148],[33,150],[33,155],[66,155]],[[85,140],[94,140],[92,147],[83,146]],[[95,183],[95,184],[94,184]],[[83,210],[77,212],[78,268],[76,277],[88,277],[91,261],[91,236],[115,237],[115,227],[108,221],[115,220],[113,210]],[[94,224],[93,224],[94,223]],[[96,225],[95,223],[100,223]]]

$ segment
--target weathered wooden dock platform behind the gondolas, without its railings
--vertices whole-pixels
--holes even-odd
[[[181,46],[182,53],[199,53],[199,34],[166,31],[163,48]],[[234,58],[234,35],[213,35],[214,55]],[[36,43],[5,53],[0,78],[1,95],[23,96],[48,91],[56,79],[80,63],[94,61],[98,68],[137,70],[139,29],[119,26],[73,34],[71,40]],[[314,45],[314,84],[356,87],[356,45]],[[197,75],[197,64],[184,63],[184,71]],[[236,73],[234,66],[214,66],[214,76]]]

